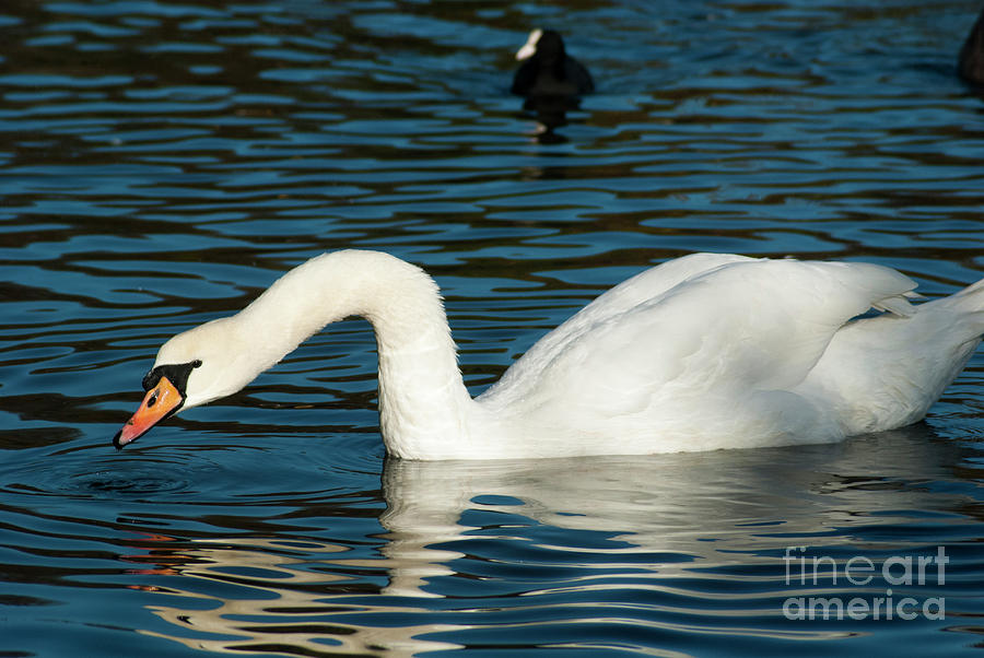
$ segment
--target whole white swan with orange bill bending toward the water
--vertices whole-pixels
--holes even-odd
[[[876,265],[694,254],[617,285],[471,399],[438,289],[376,251],[288,272],[168,340],[121,447],[231,395],[325,325],[376,332],[387,450],[408,459],[648,454],[823,443],[914,423],[984,332],[984,280],[913,306]],[[886,313],[854,319],[870,308]]]

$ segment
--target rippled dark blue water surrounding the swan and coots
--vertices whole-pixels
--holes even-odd
[[[976,5],[8,0],[0,655],[980,647],[982,352],[925,423],[840,445],[409,463],[348,320],[109,445],[163,340],[325,250],[433,273],[476,392],[693,250],[980,279]],[[544,24],[598,82],[552,139],[506,93]]]

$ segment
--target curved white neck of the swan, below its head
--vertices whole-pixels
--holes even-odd
[[[270,337],[273,344],[266,349],[277,360],[330,322],[364,317],[376,337],[387,449],[427,458],[432,446],[447,450],[448,442],[467,440],[475,402],[458,369],[437,285],[420,268],[382,252],[327,254],[285,274],[244,314],[260,325],[281,325],[256,331]]]

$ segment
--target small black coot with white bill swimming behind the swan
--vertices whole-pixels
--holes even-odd
[[[564,39],[553,30],[534,30],[516,59],[523,66],[513,78],[514,94],[534,97],[575,97],[595,91],[591,74],[564,50]]]

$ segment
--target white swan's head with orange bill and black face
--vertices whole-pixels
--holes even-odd
[[[116,433],[113,445],[122,448],[178,411],[230,396],[266,369],[256,365],[255,353],[244,349],[233,320],[212,320],[161,346],[143,377],[143,401]]]

